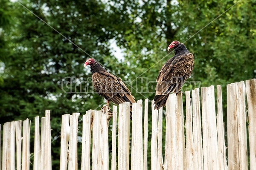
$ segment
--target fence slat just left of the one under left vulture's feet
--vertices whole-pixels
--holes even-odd
[[[101,112],[93,111],[93,150],[92,150],[92,159],[93,170],[99,170],[100,164],[100,122],[101,122]]]

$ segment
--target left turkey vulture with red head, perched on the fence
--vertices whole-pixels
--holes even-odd
[[[96,92],[107,99],[107,105],[109,101],[116,105],[123,102],[130,102],[131,119],[132,103],[136,103],[136,101],[122,80],[106,71],[105,68],[93,58],[87,59],[84,63],[84,67],[87,65],[90,65],[90,69],[93,73],[93,87],[96,89]]]

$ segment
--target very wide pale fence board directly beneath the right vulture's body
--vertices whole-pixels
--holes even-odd
[[[181,94],[170,94],[166,102],[165,170],[186,168],[183,116]]]

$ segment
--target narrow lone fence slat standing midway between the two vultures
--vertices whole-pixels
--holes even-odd
[[[148,170],[148,99],[145,99],[143,133],[143,170]]]

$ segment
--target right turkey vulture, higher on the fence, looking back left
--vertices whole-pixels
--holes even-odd
[[[160,69],[157,77],[154,109],[166,105],[170,93],[179,93],[182,85],[189,78],[194,68],[194,56],[183,43],[173,41],[169,49],[174,48],[175,56],[170,58]]]

